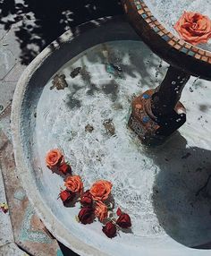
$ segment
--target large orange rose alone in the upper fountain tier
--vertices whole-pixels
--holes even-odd
[[[173,28],[192,45],[207,43],[211,38],[211,20],[200,13],[184,12]]]

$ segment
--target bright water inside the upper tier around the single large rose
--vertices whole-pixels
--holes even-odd
[[[178,37],[178,33],[173,26],[184,11],[201,13],[211,19],[211,0],[144,0],[144,2],[156,19],[175,37]],[[211,39],[206,44],[198,44],[197,47],[211,52]]]

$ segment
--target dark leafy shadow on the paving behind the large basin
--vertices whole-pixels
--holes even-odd
[[[10,30],[21,47],[21,64],[30,64],[38,53],[65,30],[99,17],[122,14],[119,0],[0,0],[0,26]]]

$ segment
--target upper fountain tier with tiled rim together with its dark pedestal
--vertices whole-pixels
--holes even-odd
[[[169,1],[121,2],[128,20],[140,38],[156,55],[171,65],[165,81],[156,90],[147,91],[133,100],[129,121],[129,126],[139,134],[144,144],[160,144],[185,123],[185,108],[179,99],[190,75],[211,81],[211,47],[207,44],[205,48],[199,48],[178,38],[177,32],[172,28],[176,20],[171,21],[172,15],[164,12],[171,9],[168,6]],[[183,4],[179,2],[178,6]],[[204,6],[206,8],[201,11],[208,8],[207,5]],[[180,18],[178,13],[175,13],[177,19]]]

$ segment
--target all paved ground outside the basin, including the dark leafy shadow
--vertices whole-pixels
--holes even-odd
[[[30,61],[65,30],[122,13],[118,0],[71,2],[0,1],[0,204],[9,206],[7,213],[0,209],[0,256],[76,255],[49,234],[30,205],[16,174],[10,131],[13,92]]]

